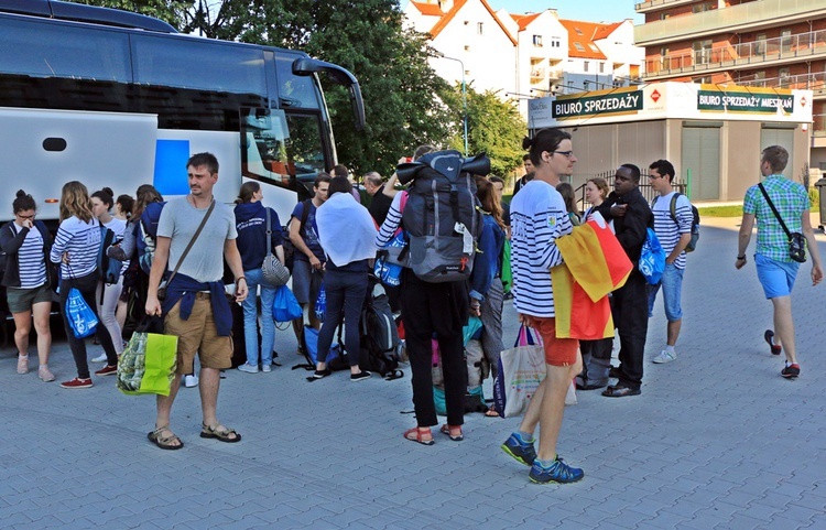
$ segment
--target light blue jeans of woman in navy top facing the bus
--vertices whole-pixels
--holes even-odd
[[[243,307],[243,339],[247,345],[247,364],[258,366],[258,286],[261,285],[261,364],[272,365],[272,345],[275,342],[275,323],[272,320],[272,302],[275,288],[263,283],[261,269],[243,271],[249,295]]]

